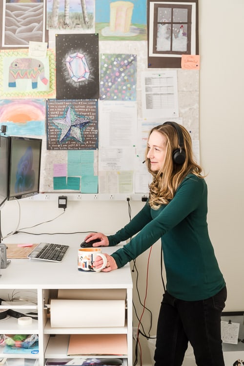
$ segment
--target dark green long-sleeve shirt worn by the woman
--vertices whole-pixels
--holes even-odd
[[[121,268],[161,238],[167,291],[185,301],[211,297],[225,282],[208,235],[206,215],[205,180],[189,174],[167,205],[153,210],[146,203],[129,224],[108,236],[109,246],[113,246],[135,235],[112,257]]]

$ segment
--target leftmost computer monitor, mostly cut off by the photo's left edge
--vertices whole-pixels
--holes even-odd
[[[9,138],[0,135],[0,208],[8,198]]]

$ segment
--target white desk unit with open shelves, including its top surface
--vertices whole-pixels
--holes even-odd
[[[8,246],[10,242],[13,243],[13,237],[7,238],[4,243]],[[14,236],[15,243],[34,243],[36,238],[31,235],[24,236],[24,234],[17,234]],[[6,298],[7,293],[12,293],[13,290],[20,294],[25,291],[36,293],[38,310],[38,320],[33,320],[32,325],[28,327],[21,327],[18,325],[18,319],[9,317],[0,322],[1,334],[38,334],[39,336],[39,354],[6,354],[2,353],[0,347],[0,357],[11,358],[30,358],[37,359],[39,366],[45,365],[47,358],[74,358],[74,356],[67,356],[67,348],[70,334],[126,334],[127,338],[127,354],[114,355],[100,355],[96,357],[101,358],[120,358],[123,359],[124,366],[132,365],[132,278],[129,265],[122,269],[104,272],[81,272],[77,269],[77,250],[79,245],[74,243],[74,235],[71,238],[63,238],[61,235],[42,235],[38,237],[38,241],[52,242],[62,244],[62,242],[69,243],[69,250],[61,263],[48,263],[45,261],[29,260],[29,259],[12,259],[8,268],[1,270],[0,278],[0,298]],[[79,238],[81,243],[81,238]],[[103,252],[111,254],[117,247],[104,248]],[[57,298],[59,289],[75,289],[82,290],[98,290],[110,289],[110,291],[117,291],[123,289],[126,293],[126,311],[125,311],[125,325],[123,327],[85,327],[85,328],[54,328],[50,325],[48,314],[48,307],[50,299]],[[2,306],[1,308],[5,308]],[[20,307],[17,311],[21,312]],[[26,307],[28,308],[28,307]],[[30,307],[33,309],[33,307]],[[34,307],[35,308],[35,307]],[[99,311],[99,309],[98,309]],[[81,358],[82,355],[76,356]],[[89,356],[84,355],[84,358]],[[35,364],[36,366],[36,364]]]

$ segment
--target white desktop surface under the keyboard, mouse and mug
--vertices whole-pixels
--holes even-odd
[[[56,243],[70,246],[61,263],[35,259],[11,259],[6,269],[1,269],[1,289],[124,289],[132,288],[130,266],[111,272],[81,272],[77,269],[80,243],[86,235],[55,234],[31,235],[18,233],[3,240],[7,246],[16,243]],[[122,245],[104,247],[112,254]]]

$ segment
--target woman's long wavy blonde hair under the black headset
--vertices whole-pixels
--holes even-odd
[[[151,170],[150,160],[145,156],[148,172],[152,174],[148,202],[155,210],[158,210],[162,204],[169,203],[174,197],[179,184],[187,174],[192,173],[203,178],[201,175],[202,168],[195,162],[193,157],[191,136],[183,126],[179,125],[179,127],[182,130],[185,151],[185,161],[183,164],[175,164],[172,157],[173,151],[179,148],[179,138],[175,127],[170,124],[163,124],[152,128],[149,133],[150,136],[153,131],[158,131],[167,140],[165,161],[163,167],[158,172]],[[146,155],[147,153],[148,148]]]

